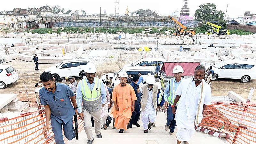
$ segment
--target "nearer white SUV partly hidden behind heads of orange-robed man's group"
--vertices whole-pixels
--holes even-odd
[[[154,68],[151,67],[124,67],[115,73],[105,74],[101,76],[100,79],[104,80],[106,79],[106,75],[108,75],[108,77],[113,77],[113,81],[115,81],[117,74],[120,74],[122,71],[125,71],[128,75],[131,75],[131,77],[133,77],[133,75],[138,75],[138,73],[140,73],[141,76],[143,77],[144,82],[148,78],[148,73],[150,73],[151,75],[155,74]]]

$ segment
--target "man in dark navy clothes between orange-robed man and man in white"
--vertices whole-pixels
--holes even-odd
[[[139,75],[133,75],[131,85],[134,89],[137,100],[135,100],[134,102],[135,109],[132,112],[132,118],[130,119],[130,128],[132,128],[132,124],[134,124],[137,127],[140,127],[140,124],[137,123],[140,118],[140,101],[138,100],[141,100],[141,98],[138,97],[139,96],[138,92],[140,92],[137,85],[138,79],[139,79]]]

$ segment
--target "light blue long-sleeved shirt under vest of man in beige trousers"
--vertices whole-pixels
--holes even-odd
[[[82,79],[83,80],[83,79]],[[78,113],[81,113],[83,112],[82,111],[82,99],[83,99],[83,94],[82,94],[82,91],[81,91],[81,84],[82,84],[82,80],[78,82],[77,84],[77,90],[76,90],[76,104],[77,104],[77,112]],[[100,79],[99,79],[100,80]],[[88,79],[85,78],[85,81],[88,85],[88,87],[90,88],[90,90],[92,91],[93,89],[93,86],[95,84],[95,78],[93,79],[93,82],[92,84],[89,83]],[[105,86],[102,82],[102,80],[100,80],[100,94],[101,94],[101,104],[105,104],[105,101],[107,99],[107,92],[106,92],[106,89],[105,89]]]

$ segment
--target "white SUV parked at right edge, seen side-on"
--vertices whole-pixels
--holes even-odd
[[[208,68],[210,66],[206,66]],[[243,60],[225,60],[212,65],[214,75],[212,80],[218,78],[240,79],[242,83],[247,83],[256,79],[256,62]]]

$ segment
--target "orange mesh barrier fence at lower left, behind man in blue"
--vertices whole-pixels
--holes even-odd
[[[74,118],[73,118],[74,121]],[[83,130],[84,121],[77,116],[78,132]],[[12,119],[3,119],[0,122],[0,143],[1,144],[54,144],[54,134],[50,130],[47,136],[42,134],[45,125],[44,109],[21,114]],[[73,122],[73,126],[75,124]],[[64,132],[63,132],[64,135]],[[68,140],[64,136],[64,141]]]

